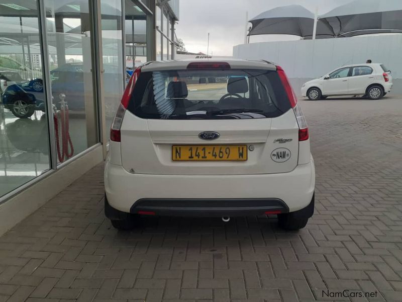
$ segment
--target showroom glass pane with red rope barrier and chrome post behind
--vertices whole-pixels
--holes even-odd
[[[93,29],[88,0],[45,0],[46,33],[58,162],[99,140],[92,66]],[[109,3],[109,2],[108,2]],[[103,2],[102,11],[116,11]],[[63,126],[64,125],[64,126]]]

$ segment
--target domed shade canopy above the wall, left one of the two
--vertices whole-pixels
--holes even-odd
[[[250,20],[253,26],[248,35],[284,34],[309,39],[313,36],[314,17],[300,5],[277,7]],[[318,22],[316,36],[334,37],[334,33],[327,24]]]

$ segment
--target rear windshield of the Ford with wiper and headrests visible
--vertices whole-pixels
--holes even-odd
[[[250,119],[290,109],[273,70],[142,72],[128,110],[147,119]]]

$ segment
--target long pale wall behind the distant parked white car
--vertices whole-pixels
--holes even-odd
[[[346,64],[371,59],[392,71],[394,93],[402,94],[402,35],[361,36],[353,38],[259,42],[237,45],[233,56],[264,59],[286,71],[296,94],[303,83]]]

